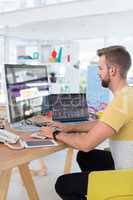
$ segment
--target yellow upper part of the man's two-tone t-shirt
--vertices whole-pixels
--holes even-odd
[[[100,121],[116,130],[112,140],[133,141],[133,87],[124,87],[116,94]]]

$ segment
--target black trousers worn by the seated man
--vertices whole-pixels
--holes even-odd
[[[77,162],[82,172],[60,176],[55,189],[63,200],[86,200],[88,174],[92,171],[114,169],[111,153],[104,150],[79,151]]]

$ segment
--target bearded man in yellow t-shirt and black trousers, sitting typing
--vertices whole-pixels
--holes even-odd
[[[97,55],[101,84],[114,95],[103,117],[80,125],[59,124],[61,131],[42,129],[48,137],[80,150],[77,161],[82,172],[63,175],[56,182],[56,191],[63,200],[86,199],[88,173],[91,171],[114,169],[114,164],[115,169],[133,167],[133,88],[127,84],[131,57],[122,46],[99,49]],[[110,138],[111,153],[93,150],[107,138]]]

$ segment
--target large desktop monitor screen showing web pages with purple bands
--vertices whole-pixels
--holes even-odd
[[[46,66],[6,64],[5,81],[11,123],[42,113],[49,94]]]

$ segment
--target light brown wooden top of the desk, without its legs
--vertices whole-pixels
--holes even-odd
[[[21,135],[25,139],[29,138],[28,134],[25,134],[19,131],[17,131],[16,133]],[[67,148],[67,145],[59,144],[58,146],[54,146],[54,147],[12,150],[3,144],[0,144],[0,170],[6,170],[6,169],[16,167],[23,163],[36,160],[40,157],[47,156],[49,154],[55,153],[65,148]]]

